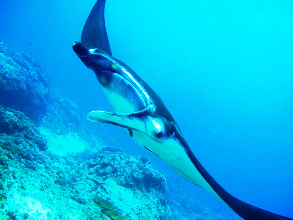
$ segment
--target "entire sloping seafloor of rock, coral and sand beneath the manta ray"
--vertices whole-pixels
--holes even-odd
[[[0,45],[0,219],[235,219],[107,147],[35,59]],[[235,214],[236,215],[236,214]]]

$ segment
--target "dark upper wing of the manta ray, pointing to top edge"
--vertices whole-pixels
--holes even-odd
[[[88,49],[98,48],[112,56],[105,26],[105,1],[97,1],[86,19],[81,33],[81,43]]]

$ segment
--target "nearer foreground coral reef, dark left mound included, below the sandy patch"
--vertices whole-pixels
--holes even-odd
[[[148,158],[115,148],[101,149],[94,157],[91,151],[52,155],[46,138],[25,114],[2,106],[0,132],[0,217],[171,218],[164,199],[165,177]]]

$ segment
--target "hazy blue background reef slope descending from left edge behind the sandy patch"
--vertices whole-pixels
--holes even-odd
[[[50,74],[37,60],[0,44],[0,104],[11,112],[23,112],[34,123],[54,133],[85,132],[80,109],[50,85]]]

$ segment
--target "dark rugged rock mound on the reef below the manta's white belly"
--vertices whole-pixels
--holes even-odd
[[[130,157],[118,149],[107,147],[95,154],[88,167],[97,179],[114,178],[119,186],[129,189],[157,191],[161,194],[166,192],[165,177],[152,168],[147,157]]]

